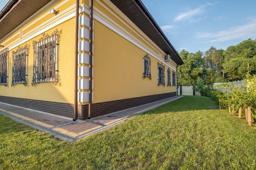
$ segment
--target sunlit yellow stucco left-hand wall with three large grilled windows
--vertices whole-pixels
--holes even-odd
[[[54,4],[58,6],[64,1]],[[67,7],[75,4],[75,1],[66,1],[61,7],[59,7],[58,12],[66,10]],[[74,11],[74,9],[71,9]],[[42,16],[45,16],[42,19]],[[49,9],[44,9],[40,11],[40,15],[33,20],[29,20],[22,29],[16,31],[9,35],[6,38],[6,41],[3,42],[4,48],[9,48],[9,63],[8,63],[8,85],[0,85],[0,95],[8,97],[18,97],[26,99],[37,99],[51,102],[64,102],[64,103],[74,103],[74,23],[75,18],[72,17],[65,22],[60,22],[56,26],[47,26],[45,31],[46,34],[52,35],[56,29],[60,31],[59,39],[59,84],[60,86],[55,86],[51,82],[40,82],[36,83],[35,86],[31,86],[32,77],[33,77],[33,63],[34,63],[34,49],[33,49],[33,40],[38,41],[43,37],[42,33],[38,33],[38,30],[35,30],[38,26],[42,27],[45,24],[48,24],[48,20],[52,19],[54,21],[58,20],[63,15],[50,14]],[[33,18],[33,17],[31,17]],[[34,24],[31,24],[34,23]],[[31,32],[32,35],[27,35]],[[34,31],[34,32],[33,32]],[[18,34],[18,35],[17,35]],[[34,35],[33,35],[34,34]],[[38,35],[36,35],[38,34]],[[13,36],[15,35],[15,36]],[[36,35],[36,36],[35,36]],[[23,42],[25,40],[25,42]],[[18,42],[17,45],[13,45],[13,42]],[[18,46],[24,47],[25,45],[29,46],[28,50],[28,76],[27,76],[27,86],[23,84],[15,84],[11,87],[12,80],[12,52],[18,49]],[[3,48],[3,49],[4,49]],[[0,49],[1,50],[1,49]]]

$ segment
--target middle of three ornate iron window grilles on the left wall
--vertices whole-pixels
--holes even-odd
[[[25,45],[24,48],[20,48],[19,46],[16,51],[12,52],[13,65],[11,86],[21,83],[27,86],[27,56],[27,45]]]

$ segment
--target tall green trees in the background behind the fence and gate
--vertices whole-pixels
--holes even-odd
[[[256,74],[256,40],[248,39],[226,50],[211,48],[204,53],[189,53],[182,50],[180,57],[184,61],[178,67],[178,84],[195,84],[202,78],[206,84],[245,79],[247,63],[249,74]]]

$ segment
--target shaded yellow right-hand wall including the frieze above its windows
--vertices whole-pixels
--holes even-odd
[[[110,3],[99,3],[97,0],[94,3],[97,7],[95,12],[98,15],[101,15],[99,11],[108,14],[108,16],[101,15],[101,17],[106,18],[110,24],[120,26],[128,32],[127,34],[132,35],[137,42],[151,47],[151,49],[146,51],[139,48],[134,42],[129,42],[113,31],[113,29],[103,25],[97,18],[94,19],[93,103],[175,92],[176,86],[167,86],[167,68],[169,68],[166,65],[167,63],[156,59],[156,57],[159,57],[159,59],[164,57],[163,51],[147,37],[144,37],[143,33],[136,31],[137,28],[134,25],[121,18],[122,15],[119,15],[113,9],[109,11],[108,8],[110,9],[111,6],[108,6],[108,4]],[[121,18],[122,21],[115,17],[113,13]],[[107,17],[110,17],[111,20],[108,20]],[[136,32],[128,29],[129,27]],[[152,79],[148,77],[143,78],[143,57],[149,52],[155,55],[153,57],[149,54]],[[157,84],[158,62],[165,66],[165,86]],[[168,64],[170,65],[171,62],[168,62]],[[171,65],[176,68],[174,64]],[[172,71],[171,69],[171,74]]]

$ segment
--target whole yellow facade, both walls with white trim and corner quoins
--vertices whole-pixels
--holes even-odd
[[[49,102],[74,104],[74,54],[75,54],[75,4],[76,0],[52,0],[34,13],[20,26],[11,31],[0,44],[9,49],[7,87],[0,85],[0,96],[34,99]],[[88,104],[88,62],[81,61],[88,56],[88,18],[90,0],[80,0],[79,11],[79,59],[78,102]],[[50,14],[50,9],[57,11]],[[93,101],[92,104],[120,99],[175,93],[176,86],[167,86],[167,69],[176,72],[175,62],[164,60],[166,55],[148,36],[124,15],[110,0],[94,0],[93,13]],[[58,75],[59,83],[36,83],[33,77],[33,41],[59,31]],[[25,45],[28,49],[27,86],[12,81],[12,52]],[[150,57],[152,79],[143,77],[144,55]],[[158,63],[165,66],[165,85],[158,85]],[[82,83],[81,83],[82,82]],[[172,84],[172,83],[171,83]]]

